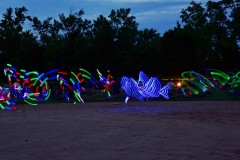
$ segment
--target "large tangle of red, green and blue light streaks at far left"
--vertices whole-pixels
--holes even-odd
[[[23,100],[30,105],[37,105],[39,102],[46,101],[51,93],[49,81],[59,83],[61,92],[68,102],[84,103],[80,94],[84,89],[81,83],[87,80],[91,81],[92,78],[91,74],[82,68],[79,69],[77,74],[58,69],[40,74],[37,71],[17,70],[11,64],[4,67],[4,74],[8,77],[9,88],[0,90],[0,107],[2,109],[11,109],[11,106],[19,100]],[[68,92],[73,93],[75,100],[69,96]]]

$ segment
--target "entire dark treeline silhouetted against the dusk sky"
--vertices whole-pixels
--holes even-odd
[[[137,76],[140,70],[163,77],[204,68],[240,69],[239,0],[208,1],[205,6],[192,1],[182,9],[181,22],[163,35],[138,29],[130,8],[92,21],[83,19],[83,10],[45,20],[27,11],[8,8],[0,19],[2,69],[6,63],[39,72],[98,68],[116,77]]]

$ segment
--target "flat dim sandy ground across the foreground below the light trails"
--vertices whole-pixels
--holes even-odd
[[[0,160],[239,160],[240,101],[20,105]]]

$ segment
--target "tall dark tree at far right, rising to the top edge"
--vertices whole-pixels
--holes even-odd
[[[237,2],[238,1],[238,2]],[[191,30],[195,42],[195,54],[203,59],[206,67],[230,69],[236,67],[239,57],[238,34],[232,17],[239,6],[239,0],[208,1],[206,8],[201,3],[191,2],[183,9],[183,28]],[[230,16],[229,16],[230,14]]]

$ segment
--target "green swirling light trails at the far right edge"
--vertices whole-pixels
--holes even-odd
[[[240,72],[228,75],[216,69],[207,69],[206,76],[194,71],[185,71],[182,73],[182,77],[181,90],[186,97],[210,92],[211,89],[221,89],[233,93],[240,84]]]

